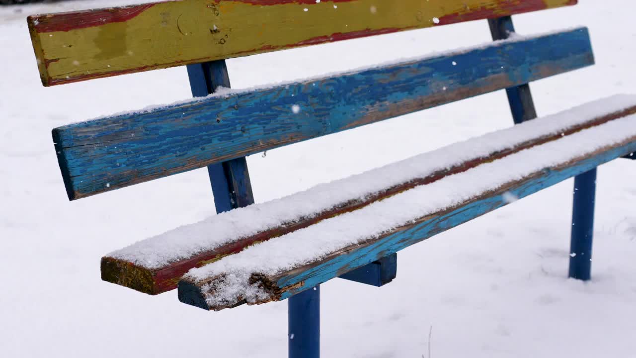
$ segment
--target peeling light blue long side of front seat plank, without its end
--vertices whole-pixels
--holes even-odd
[[[335,257],[329,257],[319,264],[303,271],[296,269],[289,275],[280,275],[277,278],[273,278],[273,284],[275,287],[280,288],[280,299],[286,299],[298,292],[302,292],[306,289],[305,287],[319,285],[320,283],[341,275],[343,272],[364,266],[369,262],[380,259],[380,257],[402,250],[403,248],[442,233],[452,227],[459,226],[473,218],[480,217],[485,213],[501,208],[508,204],[506,199],[504,199],[504,192],[509,192],[519,198],[526,197],[539,190],[562,182],[563,180],[572,178],[572,176],[590,171],[600,164],[621,157],[626,153],[635,151],[636,141],[631,141],[621,147],[600,152],[594,157],[573,162],[571,166],[567,168],[546,169],[541,176],[530,178],[529,180],[513,185],[513,187],[498,190],[490,196],[471,201],[450,212],[432,218],[425,218],[425,220],[416,222],[412,226],[401,228],[394,233],[389,233],[366,246],[354,248],[344,254],[335,255]],[[302,282],[303,285],[298,285],[300,282]]]

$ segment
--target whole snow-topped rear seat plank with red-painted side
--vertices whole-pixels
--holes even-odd
[[[102,279],[148,294],[174,289],[191,268],[268,238],[368,206],[495,158],[636,113],[635,96],[615,96],[417,155],[282,199],[221,213],[139,241],[102,258]],[[505,140],[503,139],[505,138]]]

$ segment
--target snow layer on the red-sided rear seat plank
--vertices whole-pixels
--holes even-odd
[[[157,269],[171,262],[214,250],[300,218],[315,217],[351,199],[364,199],[382,189],[423,178],[464,161],[487,157],[538,136],[556,134],[607,113],[636,105],[636,96],[619,95],[593,101],[562,113],[525,122],[509,129],[455,143],[433,152],[373,169],[266,203],[214,215],[201,222],[139,241],[107,256]]]

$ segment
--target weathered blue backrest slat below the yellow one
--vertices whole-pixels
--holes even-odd
[[[53,129],[69,199],[593,64],[587,29]],[[294,110],[295,109],[295,110]]]

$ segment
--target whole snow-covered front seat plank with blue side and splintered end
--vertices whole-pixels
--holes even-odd
[[[635,114],[563,133],[191,269],[179,282],[179,299],[206,310],[286,299],[634,150]]]

